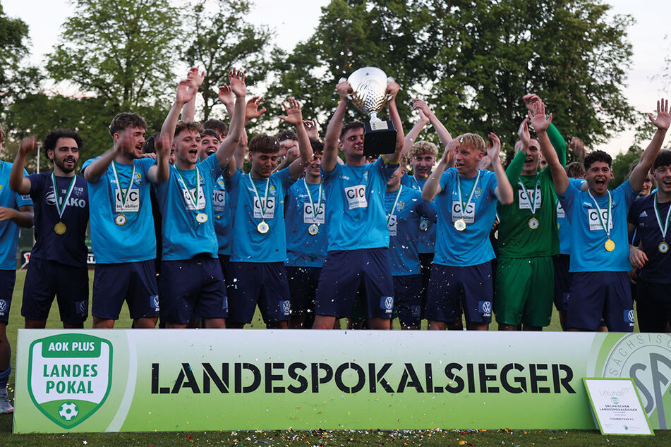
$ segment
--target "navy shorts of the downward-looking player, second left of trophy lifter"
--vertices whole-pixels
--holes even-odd
[[[251,323],[257,304],[266,324],[289,320],[289,281],[283,262],[231,262],[229,267],[229,321]]]

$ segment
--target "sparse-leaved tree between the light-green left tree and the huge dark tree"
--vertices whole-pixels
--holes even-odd
[[[206,72],[200,87],[205,99],[204,120],[210,118],[212,106],[218,103],[219,86],[228,82],[231,68],[241,68],[248,85],[265,78],[270,68],[267,51],[272,37],[266,27],[246,22],[243,16],[250,8],[247,0],[217,0],[213,7],[207,3],[210,2],[201,0],[191,9],[191,43],[183,49],[189,65],[200,66]]]

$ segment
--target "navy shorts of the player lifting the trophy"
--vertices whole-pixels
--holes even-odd
[[[394,283],[387,248],[328,252],[317,289],[315,314],[349,317],[359,286],[363,286],[365,315],[391,319]]]

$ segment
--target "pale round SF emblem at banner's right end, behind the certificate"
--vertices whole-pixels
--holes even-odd
[[[602,376],[634,379],[648,418],[657,419],[660,429],[669,428],[666,411],[671,411],[671,405],[665,408],[664,404],[671,403],[671,335],[631,333],[622,337],[608,353]]]

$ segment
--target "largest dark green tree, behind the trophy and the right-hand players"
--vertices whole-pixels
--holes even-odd
[[[452,133],[494,130],[509,154],[521,97],[536,92],[567,138],[591,146],[631,123],[622,87],[632,20],[608,18],[609,8],[589,0],[333,0],[315,34],[279,55],[281,87],[271,92],[284,88],[307,114],[330,115],[337,80],[379,66],[404,89],[404,125],[418,94]]]

